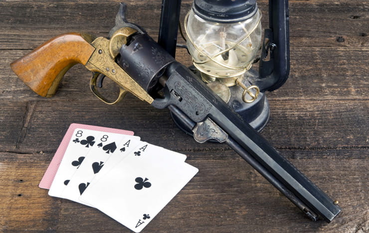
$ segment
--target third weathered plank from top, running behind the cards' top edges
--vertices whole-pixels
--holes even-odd
[[[22,114],[27,105],[27,113]],[[20,106],[7,104],[2,109],[0,120],[13,127],[0,132],[0,138],[5,142],[0,144],[0,150],[55,151],[73,122],[133,130],[142,140],[175,150],[223,148],[212,143],[199,145],[193,142],[175,126],[168,111],[151,108],[134,97],[117,106],[105,106],[95,101],[46,100]],[[280,149],[357,148],[365,151],[368,150],[368,109],[369,101],[273,102],[271,118],[262,135]],[[18,112],[18,122],[12,117],[14,111]],[[23,124],[27,117],[28,123]],[[160,137],[152,138],[158,132]]]

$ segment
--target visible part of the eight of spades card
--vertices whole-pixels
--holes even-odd
[[[113,159],[113,157],[115,160],[119,160],[119,158],[125,156],[124,152],[127,147],[127,141],[140,140],[137,136],[106,132],[99,137],[100,138],[97,139],[99,143],[97,146],[90,149],[83,163],[73,174],[68,185],[60,194],[61,198],[88,205],[87,203],[81,202],[79,197],[90,185],[95,174],[99,174],[102,170],[107,168],[106,161]],[[117,157],[117,159],[115,157]]]

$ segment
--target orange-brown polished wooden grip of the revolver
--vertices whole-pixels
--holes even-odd
[[[10,67],[35,93],[51,97],[70,67],[86,65],[95,51],[92,40],[91,35],[83,33],[61,34],[13,61]]]

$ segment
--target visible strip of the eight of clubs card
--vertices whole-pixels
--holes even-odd
[[[100,131],[81,128],[74,130],[48,192],[50,196],[59,197],[74,172],[83,163],[87,153],[98,144],[96,138],[101,133]]]

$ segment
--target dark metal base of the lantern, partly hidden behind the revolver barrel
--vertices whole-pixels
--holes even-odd
[[[196,73],[196,72],[195,72]],[[248,82],[250,77],[255,77],[256,73],[252,70],[245,74],[244,82]],[[261,131],[269,120],[269,103],[264,92],[260,92],[257,99],[252,103],[245,103],[242,100],[244,89],[236,85],[229,87],[230,98],[228,106],[238,113],[245,122],[249,123],[257,131]],[[171,113],[177,126],[185,133],[193,135],[192,130],[185,126],[183,121]]]

